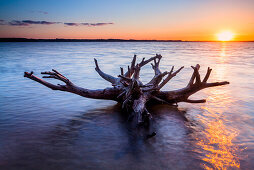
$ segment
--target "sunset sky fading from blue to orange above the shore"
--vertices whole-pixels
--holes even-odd
[[[0,0],[1,38],[254,40],[254,0]]]

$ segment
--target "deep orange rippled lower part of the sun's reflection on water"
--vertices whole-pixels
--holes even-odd
[[[210,112],[210,114],[214,113]],[[207,125],[204,132],[205,139],[197,142],[197,145],[206,153],[202,160],[215,169],[240,168],[237,157],[238,147],[232,143],[238,132],[226,127],[219,117],[211,122],[204,121],[203,123]],[[209,164],[204,164],[204,168],[212,169]]]

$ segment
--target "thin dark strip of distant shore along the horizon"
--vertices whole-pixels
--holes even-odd
[[[220,41],[183,41],[183,40],[135,40],[135,39],[32,39],[32,38],[0,38],[0,42],[220,42]],[[254,41],[230,41],[254,42]]]

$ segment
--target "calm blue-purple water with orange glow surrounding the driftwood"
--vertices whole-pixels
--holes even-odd
[[[167,86],[184,87],[191,65],[230,85],[192,98],[204,104],[150,107],[157,136],[143,140],[114,101],[52,91],[24,71],[57,69],[77,85],[110,86],[101,69],[160,53],[161,70],[185,66]],[[151,66],[141,72],[148,82]],[[57,83],[57,81],[53,81]],[[0,169],[254,169],[254,43],[0,43]]]

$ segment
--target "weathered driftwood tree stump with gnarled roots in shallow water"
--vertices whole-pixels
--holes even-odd
[[[128,70],[124,73],[123,68],[120,68],[121,74],[118,75],[118,77],[113,77],[101,71],[97,60],[94,59],[96,66],[95,70],[103,79],[109,81],[113,86],[110,88],[98,90],[90,90],[78,87],[54,69],[52,69],[52,72],[41,72],[41,74],[47,75],[43,76],[43,78],[58,79],[64,82],[65,85],[51,84],[43,79],[34,76],[33,72],[25,72],[24,77],[37,81],[38,83],[41,83],[42,85],[51,88],[52,90],[71,92],[87,98],[117,101],[121,103],[122,108],[127,111],[129,114],[129,119],[134,121],[137,125],[149,125],[151,114],[146,109],[146,104],[148,103],[204,103],[206,101],[204,99],[191,100],[189,97],[204,88],[229,84],[227,81],[207,83],[207,80],[212,71],[212,69],[209,67],[204,79],[201,81],[199,74],[200,65],[197,64],[195,67],[191,66],[193,68],[193,74],[186,87],[174,91],[161,91],[161,88],[184,68],[181,67],[178,70],[174,71],[174,67],[172,67],[169,72],[161,72],[159,68],[161,58],[161,55],[156,54],[156,56],[151,57],[147,60],[143,58],[140,63],[136,64],[136,55],[134,55],[131,65],[128,66]],[[140,69],[149,62],[153,62],[151,65],[154,70],[154,77],[147,84],[143,84],[139,79]]]

